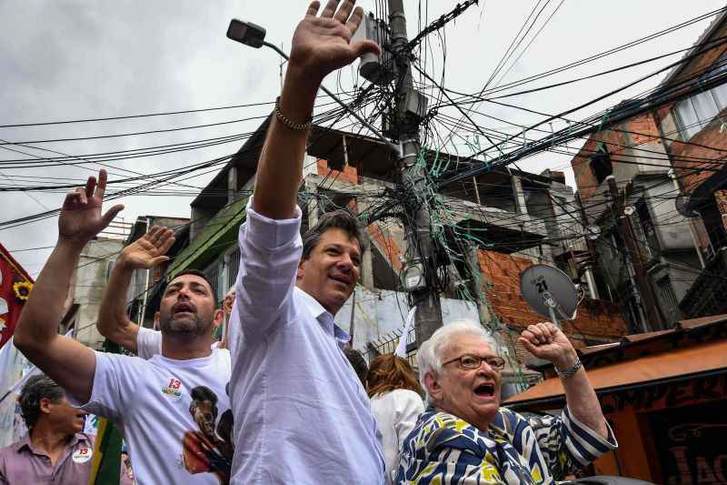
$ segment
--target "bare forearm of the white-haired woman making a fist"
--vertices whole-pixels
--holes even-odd
[[[572,367],[577,361],[578,356],[573,352],[573,356],[569,356],[569,359],[556,367],[563,371]],[[585,369],[583,367],[578,369],[578,372],[569,378],[562,379],[562,382],[565,390],[565,400],[568,409],[571,409],[573,418],[598,432],[603,438],[607,438],[608,429],[601,410],[601,403],[598,401]]]

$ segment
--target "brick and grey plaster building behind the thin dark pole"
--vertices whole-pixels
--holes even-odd
[[[632,332],[671,328],[682,319],[679,302],[701,271],[692,221],[677,210],[678,188],[660,136],[648,112],[616,125],[605,118],[603,128],[571,161],[583,204],[583,226],[600,229],[591,243],[599,295],[622,302]],[[622,234],[614,216],[610,176],[622,197],[630,235]],[[632,237],[638,248],[631,258],[624,237]],[[639,285],[642,276],[645,285]],[[647,317],[650,301],[655,308],[652,318]]]

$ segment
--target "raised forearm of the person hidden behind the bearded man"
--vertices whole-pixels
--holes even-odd
[[[139,327],[126,316],[126,294],[134,274],[133,268],[118,261],[106,283],[98,313],[98,331],[124,348],[136,351]]]

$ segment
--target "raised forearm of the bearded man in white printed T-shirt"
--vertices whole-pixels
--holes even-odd
[[[58,241],[45,263],[31,298],[25,303],[15,329],[15,345],[18,347],[42,347],[58,335],[58,325],[64,318],[64,304],[70,291],[70,283],[81,257],[80,248]]]

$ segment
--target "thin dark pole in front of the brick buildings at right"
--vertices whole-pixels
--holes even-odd
[[[652,287],[646,277],[646,270],[643,267],[639,248],[636,246],[635,237],[633,237],[631,221],[623,212],[623,204],[621,197],[619,196],[618,187],[616,187],[616,179],[610,175],[606,177],[606,181],[608,182],[608,187],[611,192],[616,225],[623,237],[624,243],[626,244],[626,248],[624,248],[626,255],[626,271],[629,273],[633,297],[636,300],[636,305],[642,310],[642,316],[645,316],[648,320],[648,323],[647,321],[642,321],[642,330],[647,332],[650,328],[653,328],[654,325],[661,328],[662,318],[660,317],[659,310],[654,304],[655,298],[652,293]],[[633,275],[631,268],[633,268]]]

